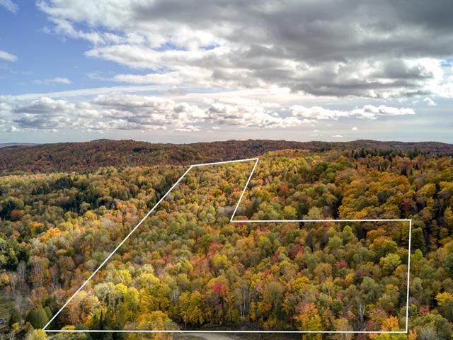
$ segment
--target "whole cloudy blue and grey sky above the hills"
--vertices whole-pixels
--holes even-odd
[[[0,143],[453,142],[451,1],[0,0]]]

